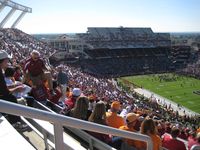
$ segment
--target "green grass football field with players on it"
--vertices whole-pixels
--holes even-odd
[[[140,75],[122,79],[200,113],[200,95],[193,93],[200,91],[200,80],[173,74]]]

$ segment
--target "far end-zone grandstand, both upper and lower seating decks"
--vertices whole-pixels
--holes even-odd
[[[103,76],[162,73],[172,67],[169,33],[151,28],[96,28],[77,34],[89,46],[82,59],[84,71]]]

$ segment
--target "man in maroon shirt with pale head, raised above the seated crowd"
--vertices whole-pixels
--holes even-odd
[[[33,86],[40,86],[47,80],[50,93],[55,95],[50,68],[40,58],[40,52],[36,50],[31,52],[31,57],[25,63],[24,71],[26,76],[31,79]]]

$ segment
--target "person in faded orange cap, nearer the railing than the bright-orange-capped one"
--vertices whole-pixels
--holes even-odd
[[[138,120],[139,114],[135,113],[128,113],[126,115],[126,125],[119,127],[121,130],[136,132],[134,126],[136,121]],[[132,140],[132,139],[123,139],[123,143],[121,149],[140,149],[140,145],[138,144],[139,141]]]

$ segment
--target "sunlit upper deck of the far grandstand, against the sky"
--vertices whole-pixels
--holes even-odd
[[[151,28],[95,28],[89,27],[86,34],[77,34],[94,49],[169,47],[168,33],[153,33]]]

